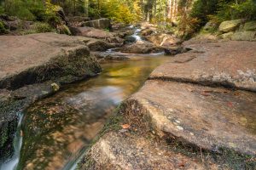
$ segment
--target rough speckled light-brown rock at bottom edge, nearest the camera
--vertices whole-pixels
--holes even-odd
[[[214,169],[213,164],[206,167],[148,139],[122,133],[105,134],[86,157],[78,169]]]

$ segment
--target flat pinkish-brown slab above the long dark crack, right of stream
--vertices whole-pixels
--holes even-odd
[[[151,79],[256,91],[256,42],[186,42],[186,54],[160,65]]]

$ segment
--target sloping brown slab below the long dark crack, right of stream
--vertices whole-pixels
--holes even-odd
[[[149,80],[125,101],[130,124],[206,150],[256,154],[256,94]]]

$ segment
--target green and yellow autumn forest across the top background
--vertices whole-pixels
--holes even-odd
[[[189,33],[209,20],[256,18],[255,0],[0,0],[0,4],[0,14],[50,25],[58,22],[55,11],[61,7],[67,16],[107,17],[125,24],[149,21]]]

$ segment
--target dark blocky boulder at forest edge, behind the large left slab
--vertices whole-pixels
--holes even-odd
[[[84,24],[82,26],[90,26],[90,27],[94,27],[97,29],[110,29],[111,28],[110,20],[107,18],[86,21],[86,22],[84,22]]]

